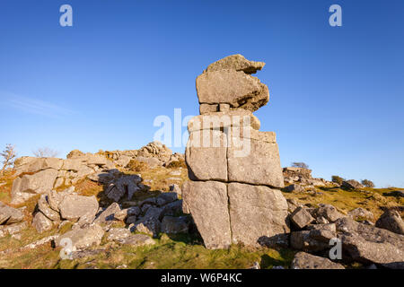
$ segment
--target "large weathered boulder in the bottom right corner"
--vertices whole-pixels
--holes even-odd
[[[335,223],[344,252],[354,260],[389,268],[404,268],[404,235],[347,217]]]

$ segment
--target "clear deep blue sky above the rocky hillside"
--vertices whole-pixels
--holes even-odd
[[[62,4],[73,27],[59,25]],[[155,117],[198,115],[198,74],[240,53],[267,63],[255,115],[283,166],[404,187],[401,0],[3,0],[0,35],[0,145],[19,155],[137,149]]]

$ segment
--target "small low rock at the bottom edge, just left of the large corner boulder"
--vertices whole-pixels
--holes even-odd
[[[294,256],[292,269],[345,269],[343,265],[332,262],[328,258],[316,257],[305,252],[298,252]]]

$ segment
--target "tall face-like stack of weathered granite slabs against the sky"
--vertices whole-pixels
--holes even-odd
[[[200,115],[189,120],[182,196],[206,248],[257,246],[289,230],[276,135],[260,132],[252,114],[269,100],[267,85],[250,75],[264,65],[233,55],[197,78]]]

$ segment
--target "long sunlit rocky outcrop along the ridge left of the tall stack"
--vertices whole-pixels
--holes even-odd
[[[91,178],[102,184],[115,179],[109,187],[108,197],[119,201],[142,189],[141,178],[136,175],[123,175],[115,168],[126,168],[132,160],[145,162],[153,168],[166,166],[172,161],[184,160],[180,153],[172,154],[164,144],[152,142],[141,149],[131,151],[114,151],[83,153],[78,150],[69,152],[67,159],[22,157],[15,161],[14,170],[17,178],[13,181],[12,204],[22,204],[37,194],[48,194],[57,187],[75,185],[83,178]]]

